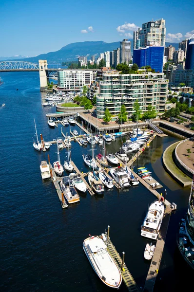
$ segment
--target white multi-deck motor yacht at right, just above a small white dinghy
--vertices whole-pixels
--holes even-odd
[[[164,217],[165,206],[163,197],[155,200],[149,207],[146,217],[141,226],[141,236],[157,239]]]

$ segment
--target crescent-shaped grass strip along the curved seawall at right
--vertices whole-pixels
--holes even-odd
[[[186,174],[184,174],[174,163],[173,161],[173,151],[175,150],[175,147],[179,144],[180,142],[177,142],[176,144],[170,146],[168,150],[165,153],[165,162],[171,172],[175,174],[177,177],[180,178],[180,180],[184,183],[192,181],[191,178],[189,178]]]

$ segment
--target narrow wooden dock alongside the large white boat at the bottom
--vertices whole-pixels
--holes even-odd
[[[130,292],[139,292],[139,289],[136,285],[136,282],[129,272],[128,268],[126,267],[125,263],[123,265],[123,269],[121,269],[122,266],[122,259],[119,256],[118,252],[116,251],[115,246],[113,245],[110,237],[108,238],[107,242],[107,250],[110,254],[110,256],[114,259],[116,262],[117,267],[120,270],[120,273],[122,275],[123,282],[125,283],[125,286],[127,287],[128,291]]]

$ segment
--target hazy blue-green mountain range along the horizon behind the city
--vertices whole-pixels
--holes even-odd
[[[131,48],[133,48],[133,39],[129,39],[131,41]],[[165,43],[166,47],[169,45],[173,45],[175,49],[178,49],[178,43]],[[84,42],[76,42],[66,45],[62,47],[60,50],[56,52],[50,52],[47,54],[41,54],[36,57],[25,57],[25,56],[13,56],[13,57],[0,57],[0,61],[2,60],[22,60],[28,61],[32,63],[38,63],[39,60],[47,60],[49,64],[67,62],[67,61],[77,61],[78,56],[88,56],[88,59],[91,55],[99,56],[100,53],[106,51],[113,51],[114,49],[119,48],[120,42],[112,42],[106,43],[104,41],[84,41]]]

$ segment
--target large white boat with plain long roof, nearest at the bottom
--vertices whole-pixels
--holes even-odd
[[[100,280],[105,285],[118,289],[122,276],[104,241],[98,236],[90,236],[83,241],[83,250]]]

